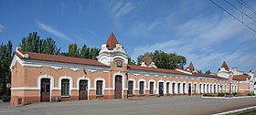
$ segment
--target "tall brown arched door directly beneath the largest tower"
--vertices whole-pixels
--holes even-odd
[[[122,76],[115,77],[114,99],[122,99]]]

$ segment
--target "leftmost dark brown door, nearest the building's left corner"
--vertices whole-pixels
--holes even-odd
[[[42,78],[41,79],[41,101],[49,101],[50,98],[50,79]]]

